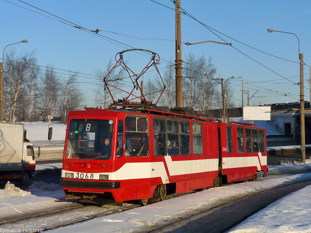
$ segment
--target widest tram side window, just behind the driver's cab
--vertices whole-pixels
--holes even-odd
[[[125,156],[149,155],[148,118],[137,116],[125,117]]]

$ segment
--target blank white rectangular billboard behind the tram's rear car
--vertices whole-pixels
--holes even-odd
[[[270,121],[271,106],[243,106],[243,120]]]

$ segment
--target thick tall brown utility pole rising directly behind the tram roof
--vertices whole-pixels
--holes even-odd
[[[176,60],[175,60],[175,79],[176,79],[176,107],[183,107],[183,75],[181,58],[181,10],[180,0],[175,0],[175,23],[176,23]]]

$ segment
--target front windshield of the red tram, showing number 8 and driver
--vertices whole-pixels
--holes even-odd
[[[66,157],[108,160],[112,154],[112,120],[74,119],[69,123]]]

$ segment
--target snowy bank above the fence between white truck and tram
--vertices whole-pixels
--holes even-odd
[[[23,122],[30,141],[48,140],[49,125],[53,128],[52,140],[65,140],[66,127],[63,124],[48,122]],[[51,125],[53,124],[53,125]]]

